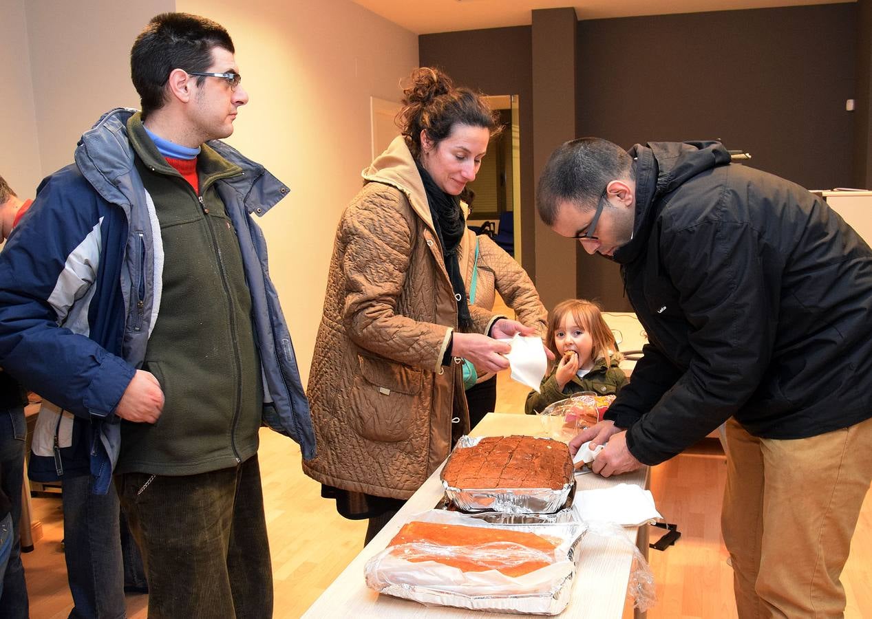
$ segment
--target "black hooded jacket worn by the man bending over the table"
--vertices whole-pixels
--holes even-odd
[[[821,198],[730,163],[717,142],[636,158],[614,260],[648,334],[606,418],[657,464],[731,416],[801,439],[872,417],[872,250]]]

